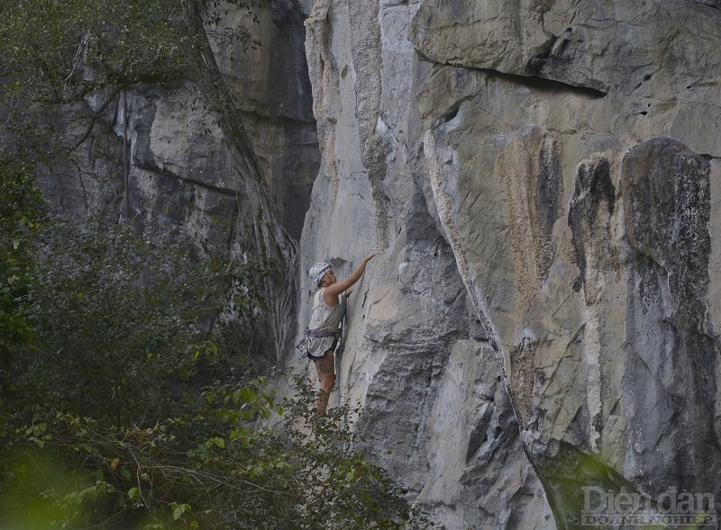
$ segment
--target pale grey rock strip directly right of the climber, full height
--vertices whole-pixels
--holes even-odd
[[[414,94],[432,70],[406,39],[418,7],[319,0],[306,19],[322,163],[301,239],[299,324],[308,317],[310,265],[330,260],[347,274],[382,250],[351,296],[332,402],[363,404],[356,425],[370,448],[439,523],[552,528],[431,189]],[[556,145],[537,141],[548,152]],[[561,197],[561,174],[547,161],[536,161],[545,173],[535,185],[543,198]],[[543,248],[528,265],[536,275],[546,274],[559,206],[531,207],[543,218]]]

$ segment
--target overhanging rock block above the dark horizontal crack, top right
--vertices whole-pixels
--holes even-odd
[[[717,16],[685,1],[441,0],[423,5],[411,39],[439,64],[663,99],[698,85],[699,63],[710,78],[721,67],[707,54]]]

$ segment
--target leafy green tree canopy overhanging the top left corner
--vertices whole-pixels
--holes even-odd
[[[192,20],[197,4],[212,29],[230,5],[249,13],[267,2],[176,0],[23,0],[0,10],[5,90],[33,102],[77,99],[100,87],[166,82],[192,76],[199,52]],[[254,19],[257,22],[257,19]],[[223,31],[225,41],[250,43],[247,28]]]

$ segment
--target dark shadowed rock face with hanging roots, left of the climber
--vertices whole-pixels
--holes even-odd
[[[214,35],[251,28],[262,45],[221,46],[211,36],[205,76],[91,94],[68,109],[66,121],[76,125],[63,134],[77,145],[72,160],[56,161],[42,188],[60,217],[132,220],[138,233],[158,226],[184,233],[201,256],[278,263],[265,285],[270,323],[256,333],[271,345],[258,340],[252,350],[268,367],[293,338],[296,282],[287,272],[296,270],[319,165],[304,15],[292,0],[274,3],[257,23],[238,6],[223,14]],[[213,114],[207,102],[220,93],[233,104]]]

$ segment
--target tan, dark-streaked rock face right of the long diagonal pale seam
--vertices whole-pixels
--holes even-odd
[[[412,39],[425,58],[454,65],[419,96],[436,203],[497,338],[556,522],[573,527],[582,499],[568,499],[569,476],[552,471],[566,463],[608,470],[604,480],[587,470],[588,485],[653,499],[671,487],[720,493],[708,298],[708,159],[719,148],[698,129],[716,130],[719,106],[706,88],[687,94],[717,89],[706,47],[721,16],[688,3],[561,4],[424,4]],[[539,31],[561,20],[568,41],[529,70]],[[461,40],[466,21],[488,31]],[[653,75],[636,79],[646,67]],[[557,173],[549,189],[566,212],[543,214],[540,176]]]

